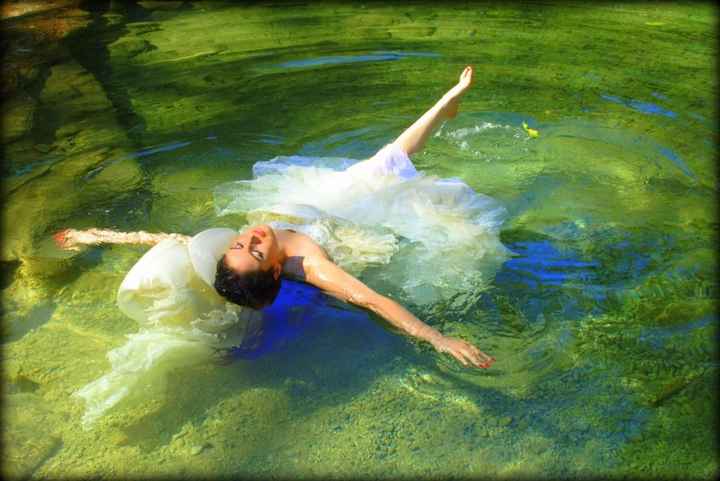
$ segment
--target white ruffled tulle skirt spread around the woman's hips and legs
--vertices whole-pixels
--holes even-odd
[[[417,304],[482,289],[509,254],[498,202],[459,179],[418,172],[396,144],[361,162],[276,157],[253,173],[216,188],[218,215],[305,226],[354,273],[387,263],[382,282]]]

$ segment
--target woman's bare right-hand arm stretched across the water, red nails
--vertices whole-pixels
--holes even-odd
[[[495,361],[472,344],[443,336],[397,302],[370,289],[327,259],[306,258],[305,280],[342,301],[368,309],[413,337],[427,341],[439,352],[447,352],[464,366],[487,368]]]

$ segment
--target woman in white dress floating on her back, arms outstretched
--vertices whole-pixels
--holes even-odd
[[[425,177],[408,157],[422,149],[440,122],[457,115],[472,80],[473,70],[466,67],[457,85],[370,159],[342,170],[307,162],[259,162],[256,179],[220,186],[220,214],[243,212],[257,222],[243,232],[209,229],[192,238],[101,229],[56,234],[66,249],[113,243],[155,246],[118,291],[120,309],[140,323],[141,331],[109,354],[110,374],[78,392],[88,402],[85,421],[125,397],[133,384],[157,380],[163,371],[158,366],[180,367],[242,342],[257,323],[257,310],[274,301],[283,277],[370,310],[464,366],[490,367],[493,357],[442,335],[348,272],[370,263],[387,264],[402,247],[414,253],[414,261],[430,266],[433,280],[442,281],[437,286],[462,288],[460,278],[452,276],[463,269],[443,271],[452,256],[470,253],[473,261],[485,259],[483,265],[495,266],[505,259],[507,251],[497,235],[502,207],[457,179]],[[463,261],[466,271],[479,271],[468,264]],[[410,291],[422,275],[411,277],[416,282],[407,283]],[[471,281],[477,284],[477,279]],[[412,292],[421,298],[430,291]]]

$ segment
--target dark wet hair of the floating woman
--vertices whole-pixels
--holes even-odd
[[[225,256],[218,261],[215,290],[230,302],[240,306],[262,309],[273,303],[280,291],[280,278],[273,277],[272,268],[238,274],[225,264]]]

